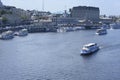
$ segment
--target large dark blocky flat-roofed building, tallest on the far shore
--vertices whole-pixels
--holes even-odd
[[[96,21],[99,20],[100,10],[98,7],[77,6],[70,9],[70,15],[80,20]]]

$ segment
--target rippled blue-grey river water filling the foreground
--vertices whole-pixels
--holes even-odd
[[[38,33],[0,40],[0,80],[120,80],[120,30]],[[100,50],[80,56],[96,42]]]

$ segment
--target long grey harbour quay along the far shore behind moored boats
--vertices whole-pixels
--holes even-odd
[[[85,29],[98,29],[100,25],[98,24],[30,24],[30,25],[20,25],[20,26],[7,26],[5,28],[0,28],[0,33],[11,30],[13,32],[19,31],[21,29],[27,29],[29,33],[36,33],[36,32],[57,32],[57,29],[61,27],[84,27]]]

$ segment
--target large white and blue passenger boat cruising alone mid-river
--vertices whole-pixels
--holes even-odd
[[[91,54],[98,50],[99,50],[99,47],[96,43],[89,43],[83,46],[81,50],[81,55]]]

